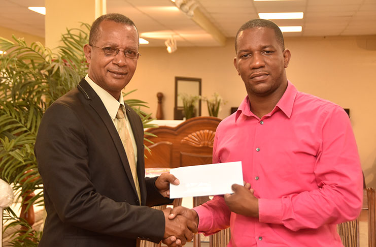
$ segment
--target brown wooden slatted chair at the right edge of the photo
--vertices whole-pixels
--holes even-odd
[[[376,192],[374,188],[363,190],[363,206],[359,217],[354,221],[338,224],[338,234],[345,247],[360,247],[359,222],[363,216],[367,220],[368,227],[368,247],[376,246]]]

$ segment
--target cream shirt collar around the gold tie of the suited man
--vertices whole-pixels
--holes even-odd
[[[117,101],[108,91],[101,88],[96,84],[93,80],[89,78],[89,75],[87,74],[85,76],[85,80],[89,83],[89,85],[94,89],[96,94],[99,96],[102,103],[105,105],[108,113],[110,114],[111,118],[114,120],[116,118],[116,113],[118,112],[120,104],[124,106],[124,100],[123,97],[119,97],[119,100]],[[125,106],[124,106],[125,109]]]

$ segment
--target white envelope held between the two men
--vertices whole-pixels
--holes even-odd
[[[234,183],[243,186],[242,162],[185,166],[170,169],[180,184],[170,184],[170,198],[211,196],[233,193]]]

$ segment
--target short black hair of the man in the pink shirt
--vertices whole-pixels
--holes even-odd
[[[285,41],[283,39],[283,34],[281,32],[281,29],[278,27],[276,23],[269,21],[269,20],[265,20],[265,19],[253,19],[244,23],[239,28],[239,30],[237,30],[237,33],[235,36],[235,52],[237,52],[237,38],[239,36],[239,33],[245,29],[254,28],[254,27],[267,27],[267,28],[273,29],[274,33],[276,34],[277,42],[281,45],[282,50],[285,50]]]

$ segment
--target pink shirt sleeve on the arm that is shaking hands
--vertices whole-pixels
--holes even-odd
[[[216,154],[217,138],[218,132],[213,145],[213,164],[221,162]],[[193,210],[198,214],[198,231],[206,236],[230,226],[231,211],[227,207],[223,196],[215,196],[212,200],[193,208]]]

